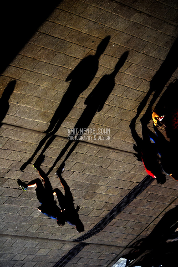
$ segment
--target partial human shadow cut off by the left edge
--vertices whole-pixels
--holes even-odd
[[[0,107],[1,107],[1,113],[0,113],[0,127],[2,126],[1,121],[5,118],[7,111],[9,110],[9,98],[11,96],[11,93],[14,91],[16,81],[13,80],[4,89],[1,99],[0,99]]]

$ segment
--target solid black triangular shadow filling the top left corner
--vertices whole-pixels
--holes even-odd
[[[1,3],[1,66],[3,72],[61,1]]]

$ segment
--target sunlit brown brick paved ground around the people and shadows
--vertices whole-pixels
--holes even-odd
[[[104,74],[112,73],[118,58],[129,51],[116,75],[112,93],[89,126],[110,128],[111,139],[80,142],[66,161],[64,178],[75,205],[80,206],[84,233],[147,175],[133,155],[129,123],[176,40],[177,16],[177,5],[171,0],[64,0],[2,73],[1,94],[11,80],[17,83],[0,128],[3,234],[0,266],[54,266],[78,244],[72,241],[82,233],[68,225],[58,227],[54,220],[40,214],[34,188],[23,192],[17,179],[38,178],[32,163],[24,171],[19,168],[45,136],[43,131],[70,84],[66,77],[84,57],[94,55],[98,44],[108,35],[110,42],[99,59],[97,74],[57,131],[56,139],[46,150],[42,168],[47,172],[64,148],[68,128],[74,127],[84,111],[86,97]],[[175,71],[170,81],[177,74]],[[139,120],[137,130],[141,130]],[[62,159],[49,175],[53,187],[60,189],[55,172]],[[83,248],[66,266],[113,264],[121,247],[148,235],[165,211],[177,205],[177,187],[172,178],[163,185],[154,181],[108,226],[87,239],[93,245]]]

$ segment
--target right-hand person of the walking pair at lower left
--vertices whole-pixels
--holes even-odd
[[[64,180],[64,178],[62,178],[62,170],[64,170],[64,165],[61,165],[60,168],[58,168],[58,171],[56,172],[57,176],[59,177],[62,186],[64,187],[64,192],[65,194],[63,195],[61,190],[56,188],[53,190],[53,194],[57,196],[59,205],[61,207],[62,210],[62,215],[65,218],[65,221],[67,223],[69,223],[70,225],[76,226],[76,230],[77,232],[81,233],[84,231],[84,225],[83,223],[80,221],[79,215],[78,215],[78,210],[80,209],[79,206],[74,207],[74,199],[72,196],[72,193],[70,192],[70,187],[68,186],[68,184],[66,183],[66,181]]]

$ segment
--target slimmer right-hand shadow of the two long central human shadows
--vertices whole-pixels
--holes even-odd
[[[119,71],[119,69],[124,65],[127,57],[128,57],[128,51],[122,54],[113,72],[111,74],[105,74],[101,78],[99,83],[96,85],[96,87],[93,89],[93,91],[88,95],[88,97],[85,100],[85,104],[87,105],[85,110],[83,111],[81,117],[78,119],[76,125],[74,126],[73,131],[69,136],[68,143],[62,149],[61,153],[55,160],[53,166],[49,169],[48,174],[53,170],[57,162],[61,159],[61,157],[65,154],[69,146],[72,144],[73,137],[77,135],[77,133],[78,133],[78,137],[80,137],[83,134],[82,132],[80,133],[80,129],[88,128],[96,112],[101,111],[101,109],[104,106],[104,103],[106,102],[106,100],[108,99],[108,96],[110,95],[110,93],[112,92],[114,88],[114,85],[115,85],[114,78],[117,72]],[[70,154],[72,153],[75,147],[76,147],[76,143],[74,143],[73,147],[70,149],[69,151]],[[66,156],[65,160],[67,158],[68,158],[68,155]]]

